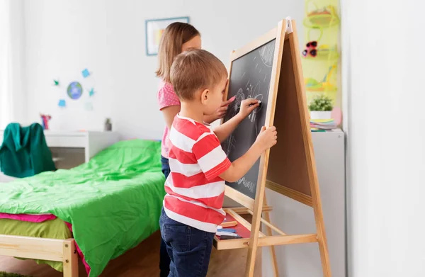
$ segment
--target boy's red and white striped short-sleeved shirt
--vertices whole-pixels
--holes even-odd
[[[169,139],[164,211],[173,220],[215,233],[225,218],[225,181],[219,175],[231,163],[212,128],[191,118],[176,115]]]

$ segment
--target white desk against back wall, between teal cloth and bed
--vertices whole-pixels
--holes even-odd
[[[3,142],[3,133],[4,131],[0,131],[0,145]],[[46,130],[45,137],[58,168],[71,168],[89,162],[91,157],[118,142],[119,139],[118,132],[100,131],[62,132]],[[62,166],[60,166],[61,164]]]

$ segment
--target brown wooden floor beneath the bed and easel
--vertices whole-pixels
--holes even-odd
[[[111,261],[101,277],[159,276],[160,234],[155,232],[134,249]],[[244,276],[247,249],[212,250],[208,277]],[[254,276],[261,276],[261,248],[257,251]],[[0,271],[21,273],[33,277],[60,277],[62,273],[35,261],[21,261],[0,256]],[[86,277],[84,266],[79,265],[79,277]]]

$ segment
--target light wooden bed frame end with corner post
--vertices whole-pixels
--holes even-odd
[[[78,277],[78,253],[74,239],[0,234],[0,256],[61,261],[64,264],[64,277]]]

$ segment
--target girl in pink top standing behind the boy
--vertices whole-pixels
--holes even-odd
[[[188,23],[171,23],[162,34],[161,42],[159,43],[159,68],[157,70],[157,77],[161,78],[159,83],[158,91],[158,103],[159,110],[164,115],[166,127],[164,135],[162,137],[162,172],[167,178],[170,174],[169,166],[169,130],[173,123],[174,117],[180,111],[180,101],[174,92],[173,86],[170,84],[169,74],[171,64],[173,64],[174,58],[181,52],[189,49],[200,49],[200,33],[195,27]],[[213,121],[222,118],[226,111],[229,103],[234,101],[234,98],[229,99],[222,103],[222,106],[215,112],[214,115],[205,116],[204,121],[206,123],[212,123]],[[159,269],[161,271],[160,276],[166,277],[169,275],[170,258],[166,251],[166,244],[161,239],[161,250],[159,252]]]

